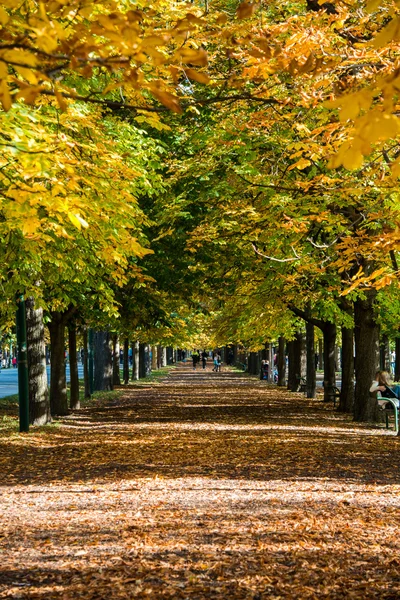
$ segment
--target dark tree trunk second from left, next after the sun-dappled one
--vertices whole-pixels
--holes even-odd
[[[50,410],[52,415],[68,414],[67,378],[65,375],[65,313],[53,311],[50,331]]]

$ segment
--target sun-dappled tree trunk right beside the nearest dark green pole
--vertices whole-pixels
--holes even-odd
[[[32,297],[26,299],[25,306],[28,343],[29,422],[31,425],[46,425],[51,421],[51,413],[47,386],[43,309],[35,308],[35,301]]]

